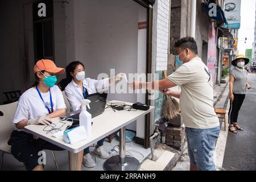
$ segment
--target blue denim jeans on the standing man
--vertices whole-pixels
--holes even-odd
[[[186,127],[188,155],[190,163],[199,171],[216,171],[214,150],[220,134],[220,127],[212,129],[192,129]]]

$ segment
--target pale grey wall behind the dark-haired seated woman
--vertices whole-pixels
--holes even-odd
[[[130,0],[76,0],[65,9],[67,64],[81,61],[86,77],[95,79],[100,73],[146,72],[146,30],[138,31],[138,22],[147,20],[146,9]],[[115,69],[113,75],[110,69]],[[108,100],[143,102],[143,96],[109,94]],[[136,122],[127,128],[136,130]]]

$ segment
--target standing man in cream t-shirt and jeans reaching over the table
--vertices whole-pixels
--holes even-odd
[[[191,170],[215,171],[213,154],[220,133],[220,123],[213,107],[213,82],[207,66],[198,56],[197,44],[191,37],[175,43],[176,60],[183,64],[172,75],[155,82],[130,84],[133,89],[161,90],[180,98],[181,117],[186,127]],[[155,88],[159,85],[159,88]],[[180,86],[181,92],[170,88]]]

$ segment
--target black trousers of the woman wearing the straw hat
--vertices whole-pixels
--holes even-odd
[[[229,108],[229,124],[233,122],[237,122],[238,114],[243,104],[243,100],[245,100],[245,94],[235,94],[234,93],[234,101],[230,101]]]

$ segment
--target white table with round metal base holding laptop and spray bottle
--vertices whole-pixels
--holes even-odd
[[[111,101],[112,103],[122,102],[123,101]],[[129,102],[125,102],[127,105],[132,105]],[[25,127],[27,133],[31,133],[36,137],[42,138],[47,142],[55,144],[67,150],[69,152],[69,169],[72,171],[81,170],[81,162],[79,162],[79,156],[82,155],[82,151],[91,146],[93,143],[98,142],[102,138],[107,137],[108,135],[114,133],[117,130],[120,130],[120,139],[119,139],[119,155],[112,156],[104,163],[104,169],[107,171],[135,171],[140,168],[140,163],[135,158],[127,158],[125,156],[126,146],[125,146],[125,129],[126,125],[129,125],[131,122],[134,122],[136,119],[142,117],[143,115],[149,114],[154,111],[154,107],[150,106],[150,109],[147,111],[137,110],[137,111],[113,111],[113,109],[105,109],[104,113],[93,118],[92,126],[92,136],[81,142],[75,144],[65,143],[61,138],[53,138],[51,133],[43,131],[43,125],[29,125]],[[60,118],[53,119],[53,123],[58,126],[63,124],[60,122]],[[71,122],[67,122],[61,130],[70,125]]]

